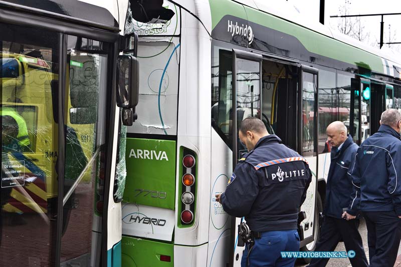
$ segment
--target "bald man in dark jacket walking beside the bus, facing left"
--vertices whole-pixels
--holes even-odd
[[[358,145],[350,135],[347,136],[347,127],[340,121],[331,123],[326,133],[333,149],[327,176],[325,217],[315,251],[334,251],[338,242],[343,240],[347,251],[355,251],[355,257],[349,258],[352,266],[367,266],[362,238],[358,232],[358,219],[346,213],[353,190],[351,176],[347,172],[349,166],[352,166]],[[357,211],[350,213],[356,215]],[[328,260],[313,258],[309,266],[325,266]]]

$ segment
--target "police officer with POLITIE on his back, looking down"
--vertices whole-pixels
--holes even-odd
[[[312,178],[308,163],[258,118],[242,121],[239,137],[250,152],[216,200],[228,214],[245,216],[251,230],[241,266],[293,266],[295,258],[281,258],[280,251],[299,250],[299,207]]]

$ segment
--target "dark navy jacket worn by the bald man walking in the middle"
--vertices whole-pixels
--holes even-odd
[[[331,163],[326,185],[326,201],[324,214],[326,216],[339,218],[343,213],[343,208],[348,208],[352,193],[352,178],[348,173],[352,166],[358,145],[348,135],[342,144],[341,149],[331,150]],[[357,212],[357,211],[356,211]]]

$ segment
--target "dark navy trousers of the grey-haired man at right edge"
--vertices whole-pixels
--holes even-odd
[[[394,266],[401,240],[401,219],[395,211],[364,211],[369,266]]]

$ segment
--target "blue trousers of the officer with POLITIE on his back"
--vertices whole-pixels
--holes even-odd
[[[261,238],[255,238],[251,248],[246,244],[241,267],[294,266],[295,258],[282,258],[281,251],[299,251],[297,230],[262,232]]]

